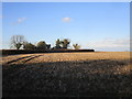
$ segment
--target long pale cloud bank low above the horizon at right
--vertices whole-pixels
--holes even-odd
[[[95,50],[106,50],[106,51],[129,51],[130,50],[130,38],[107,38],[97,42],[90,42],[84,46],[95,48]]]

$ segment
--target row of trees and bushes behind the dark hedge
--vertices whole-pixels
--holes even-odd
[[[11,47],[20,50],[61,50],[65,48],[67,50],[70,44],[70,41],[68,38],[59,40],[57,38],[55,42],[55,46],[51,47],[51,44],[46,44],[45,41],[40,41],[36,45],[26,42],[25,37],[23,35],[13,35],[11,37]],[[73,44],[73,47],[75,50],[79,50],[79,44]]]

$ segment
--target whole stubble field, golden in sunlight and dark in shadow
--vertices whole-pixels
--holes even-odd
[[[132,96],[130,52],[3,56],[3,97]]]

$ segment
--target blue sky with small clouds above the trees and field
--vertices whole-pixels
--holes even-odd
[[[10,47],[12,35],[24,35],[33,44],[54,46],[57,38],[69,38],[81,48],[129,51],[130,3],[3,2],[3,48]]]

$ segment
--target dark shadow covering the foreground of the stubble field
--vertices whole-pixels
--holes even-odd
[[[132,73],[118,70],[127,65],[100,59],[3,66],[3,97],[129,97]]]

